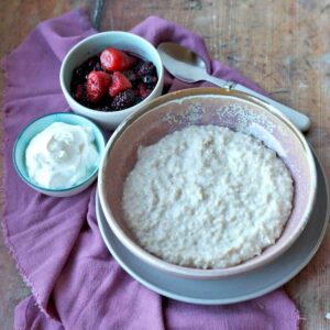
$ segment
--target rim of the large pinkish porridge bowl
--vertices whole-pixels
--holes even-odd
[[[105,185],[103,185],[103,168],[107,166],[107,160],[108,154],[111,152],[116,141],[120,139],[121,134],[123,134],[127,127],[131,125],[136,119],[142,117],[143,114],[147,113],[148,111],[152,111],[154,108],[169,102],[174,101],[175,99],[185,99],[185,98],[194,98],[198,96],[215,96],[215,97],[233,97],[238,98],[243,101],[252,102],[253,105],[256,105],[261,108],[263,108],[265,111],[271,112],[275,117],[277,117],[284,124],[286,124],[290,131],[296,134],[298,138],[301,146],[304,147],[305,155],[309,165],[309,173],[311,177],[311,185],[310,185],[310,194],[309,194],[309,200],[307,204],[307,207],[305,209],[304,216],[301,217],[302,220],[300,222],[300,226],[297,231],[294,232],[292,237],[289,237],[289,240],[282,245],[280,249],[275,250],[272,254],[268,255],[266,260],[256,260],[254,263],[246,264],[245,262],[249,262],[253,258],[256,258],[257,256],[254,256],[245,262],[242,262],[241,264],[238,264],[235,266],[231,267],[223,267],[223,268],[210,268],[210,270],[201,270],[201,268],[194,268],[194,267],[187,267],[187,266],[180,266],[176,264],[168,263],[151,253],[145,251],[142,246],[140,246],[138,243],[135,243],[133,240],[131,240],[125,232],[121,229],[121,227],[116,221],[114,216],[112,215],[110,208],[108,207],[106,197],[103,195]],[[201,87],[201,88],[189,88],[184,90],[174,91],[164,96],[161,96],[154,100],[152,100],[150,103],[141,108],[139,111],[132,113],[114,131],[110,140],[108,141],[106,145],[106,150],[103,153],[103,157],[100,162],[99,166],[99,184],[98,184],[98,194],[100,197],[100,202],[102,206],[102,210],[105,212],[107,222],[111,227],[113,233],[117,235],[117,238],[124,244],[127,249],[129,249],[134,255],[143,260],[144,262],[148,263],[150,265],[167,272],[172,273],[178,276],[184,276],[187,278],[220,278],[220,277],[229,277],[238,274],[244,274],[252,270],[256,270],[258,267],[262,267],[268,263],[271,263],[273,260],[275,260],[278,255],[287,251],[293,243],[297,240],[297,238],[300,235],[302,230],[306,228],[306,224],[309,220],[310,213],[312,211],[315,199],[316,199],[316,189],[317,189],[317,170],[316,170],[316,164],[314,161],[314,156],[311,153],[311,150],[309,147],[309,144],[302,133],[290,122],[288,118],[286,118],[279,110],[271,106],[270,103],[254,97],[251,95],[248,95],[242,91],[235,91],[230,89],[223,89],[223,88],[213,88],[213,87]],[[275,242],[276,244],[276,242]],[[261,254],[262,255],[262,254]]]

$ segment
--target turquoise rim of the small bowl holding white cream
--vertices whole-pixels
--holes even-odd
[[[99,136],[95,136],[97,141],[101,141],[101,150],[99,151],[100,153],[100,162],[98,164],[98,166],[96,166],[96,168],[91,172],[91,174],[89,176],[87,176],[82,182],[76,184],[75,186],[73,187],[69,187],[69,188],[64,188],[64,189],[52,189],[52,188],[46,188],[46,187],[42,187],[37,184],[35,184],[34,182],[32,182],[30,179],[29,176],[25,176],[19,165],[16,164],[16,152],[18,152],[18,144],[20,142],[20,140],[22,139],[22,135],[32,128],[33,124],[35,124],[37,121],[46,118],[46,117],[54,117],[54,116],[70,116],[73,118],[79,118],[79,120],[85,120],[87,121],[91,127],[94,127],[95,131],[98,133]],[[54,121],[54,122],[57,122],[57,121]],[[61,122],[61,121],[58,121]],[[51,123],[52,124],[52,123]],[[47,125],[48,128],[50,125]],[[34,135],[35,136],[35,135]],[[101,139],[98,139],[98,138],[101,138]],[[12,151],[12,162],[14,164],[14,168],[16,170],[16,173],[19,174],[20,178],[25,183],[28,184],[29,186],[31,186],[32,188],[38,190],[38,191],[46,191],[46,193],[67,193],[67,191],[72,191],[72,190],[75,190],[75,189],[78,189],[80,188],[81,186],[84,186],[86,183],[88,183],[89,180],[94,179],[96,177],[96,175],[98,174],[98,170],[99,170],[99,167],[100,167],[100,164],[101,164],[101,160],[102,160],[102,156],[103,156],[103,152],[106,150],[106,139],[105,139],[105,135],[103,133],[101,132],[101,130],[96,125],[96,123],[94,123],[91,120],[89,120],[88,118],[84,117],[84,116],[79,116],[79,114],[76,114],[76,113],[72,113],[72,112],[52,112],[52,113],[47,113],[47,114],[44,114],[44,116],[41,116],[34,120],[32,120],[30,123],[28,123],[28,125],[25,125],[22,131],[20,132],[20,134],[18,135],[15,142],[14,142],[14,146],[13,146],[13,151]]]

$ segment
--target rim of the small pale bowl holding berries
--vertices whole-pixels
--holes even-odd
[[[105,32],[95,33],[90,36],[87,36],[87,37],[82,38],[80,42],[78,42],[75,46],[73,46],[69,50],[69,52],[65,55],[65,57],[62,62],[61,69],[59,69],[59,85],[61,85],[62,91],[65,95],[65,97],[68,98],[76,107],[79,107],[84,112],[95,113],[97,110],[82,106],[81,103],[77,102],[72,97],[69,90],[66,88],[65,82],[64,82],[65,66],[67,64],[68,58],[70,56],[73,56],[73,53],[77,52],[78,48],[81,45],[88,43],[92,38],[101,37],[102,35],[129,35],[129,36],[133,36],[133,37],[138,38],[140,42],[147,45],[147,47],[154,53],[155,57],[157,58],[158,65],[160,65],[158,80],[157,80],[157,84],[155,85],[154,89],[152,90],[152,92],[143,101],[141,101],[140,103],[134,105],[133,107],[130,107],[130,108],[127,108],[127,109],[123,109],[123,110],[110,111],[110,112],[102,112],[102,111],[97,112],[99,118],[106,119],[106,118],[109,118],[109,117],[113,117],[114,114],[118,114],[119,112],[122,113],[122,114],[129,114],[132,111],[132,109],[139,109],[140,107],[143,107],[147,102],[150,102],[150,100],[154,97],[156,90],[160,88],[161,85],[163,85],[164,66],[163,66],[163,62],[162,62],[162,58],[160,56],[160,53],[157,52],[155,46],[150,41],[147,41],[146,38],[138,35],[138,34],[127,32],[127,31],[114,30],[114,31],[105,31]]]

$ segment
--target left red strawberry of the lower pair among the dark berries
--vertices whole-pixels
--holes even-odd
[[[91,103],[98,102],[107,92],[111,77],[103,72],[90,72],[87,77],[87,96]]]

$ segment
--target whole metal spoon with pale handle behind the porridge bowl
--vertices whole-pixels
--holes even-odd
[[[210,81],[226,89],[246,92],[274,106],[277,110],[288,117],[301,132],[309,129],[310,120],[306,114],[276,102],[243,85],[210,76],[207,73],[204,59],[190,50],[175,43],[162,43],[158,45],[157,51],[165,68],[177,79],[186,82]]]

